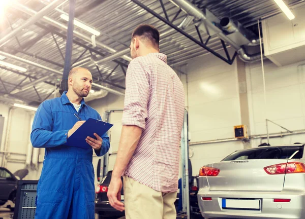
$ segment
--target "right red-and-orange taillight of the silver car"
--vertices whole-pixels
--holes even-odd
[[[289,162],[267,166],[264,168],[264,170],[270,175],[301,173],[305,172],[305,165],[301,162]]]

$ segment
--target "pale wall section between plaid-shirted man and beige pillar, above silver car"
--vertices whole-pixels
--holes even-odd
[[[187,89],[190,142],[233,138],[233,127],[241,123],[236,61],[229,65],[208,55],[189,61],[187,68],[188,78],[182,76],[182,82]],[[239,141],[190,146],[193,175],[242,148]]]

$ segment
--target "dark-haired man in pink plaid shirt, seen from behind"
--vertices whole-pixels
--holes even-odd
[[[185,94],[167,56],[159,52],[159,38],[155,27],[143,24],[134,30],[130,45],[123,129],[107,194],[127,219],[176,218]]]

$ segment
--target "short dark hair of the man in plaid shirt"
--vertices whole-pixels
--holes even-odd
[[[140,36],[148,40],[155,48],[159,48],[160,33],[156,27],[149,24],[141,24],[135,28],[132,33],[132,39],[135,36]]]

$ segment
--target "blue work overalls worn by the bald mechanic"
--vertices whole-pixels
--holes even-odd
[[[78,121],[101,116],[81,101],[79,112],[66,93],[40,104],[35,114],[31,141],[35,148],[45,148],[45,159],[37,186],[36,219],[94,219],[95,186],[93,149],[68,147],[68,131]],[[103,139],[97,156],[109,150],[109,137]]]

